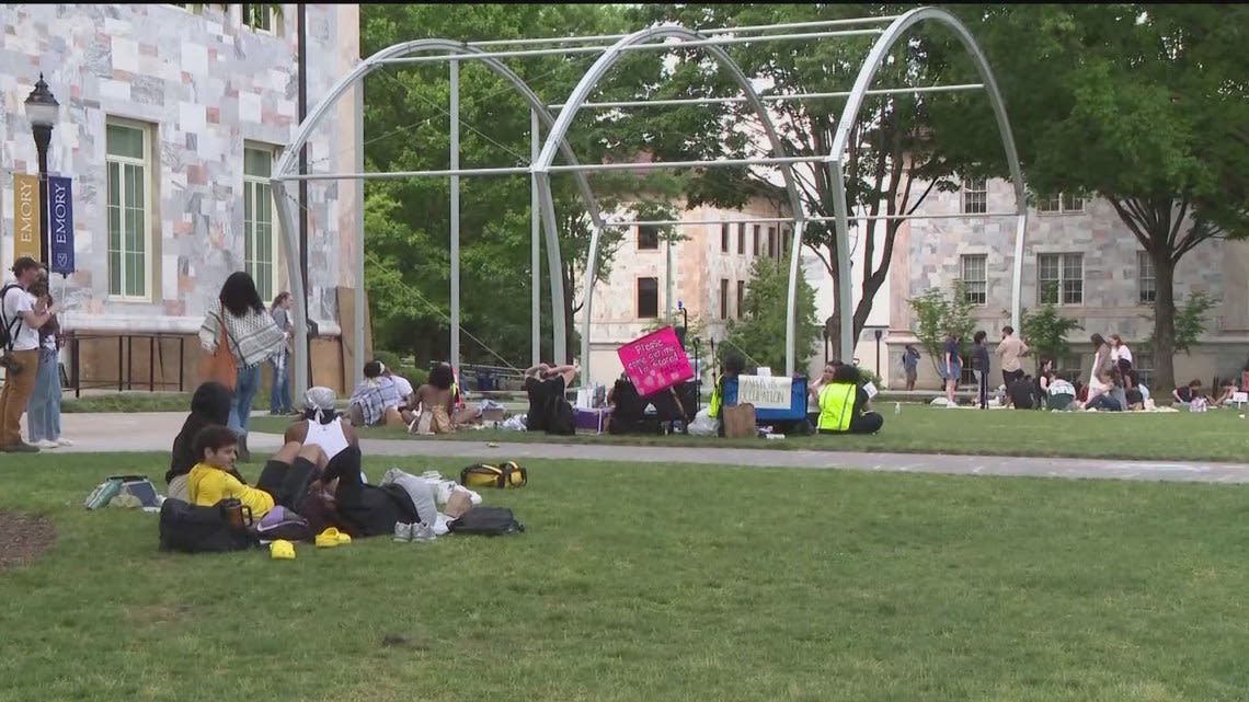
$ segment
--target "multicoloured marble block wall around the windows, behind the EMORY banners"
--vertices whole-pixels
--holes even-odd
[[[309,104],[315,106],[358,60],[358,12],[309,5]],[[194,331],[230,272],[244,267],[244,145],[281,147],[297,119],[296,10],[285,5],[272,32],[241,22],[237,5],[2,5],[0,21],[0,179],[2,260],[12,257],[11,172],[35,172],[22,101],[39,74],[61,102],[49,170],[74,177],[79,271],[62,297],[67,326],[89,330]],[[347,55],[351,54],[351,55]],[[348,102],[350,104],[350,102]],[[150,299],[107,296],[105,125],[149,125],[152,232]],[[352,110],[336,110],[313,136],[313,170],[351,171]],[[152,172],[155,169],[155,172]],[[294,191],[294,187],[292,187]],[[336,326],[335,287],[345,281],[340,191],[310,187],[310,316]],[[342,197],[346,199],[346,197]],[[279,242],[279,250],[282,245]],[[279,286],[285,289],[286,255]],[[54,290],[61,290],[61,281]]]

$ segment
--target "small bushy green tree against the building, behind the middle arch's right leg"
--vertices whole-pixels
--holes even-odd
[[[783,261],[758,257],[751,266],[751,281],[742,300],[742,319],[729,320],[726,351],[741,351],[749,361],[773,371],[784,368],[786,305],[789,295],[789,267]],[[796,361],[798,372],[806,367],[821,339],[816,319],[816,290],[798,279]]]

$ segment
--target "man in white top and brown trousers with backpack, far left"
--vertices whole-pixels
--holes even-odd
[[[39,261],[21,256],[12,264],[14,279],[0,289],[0,325],[4,349],[0,366],[5,370],[0,391],[0,451],[35,453],[39,447],[21,440],[21,415],[35,390],[39,372],[39,327],[56,314],[47,300],[34,300],[26,290],[39,277]]]

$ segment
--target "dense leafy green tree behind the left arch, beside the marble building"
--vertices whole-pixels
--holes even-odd
[[[361,9],[361,52],[372,54],[398,41],[447,37],[462,41],[613,34],[627,29],[610,5],[367,5]],[[546,104],[562,102],[595,56],[525,57],[508,65]],[[639,67],[641,66],[641,67]],[[632,96],[636,84],[658,80],[661,66],[626,57],[616,76],[595,99]],[[638,72],[641,71],[641,72]],[[376,77],[375,77],[376,76]],[[528,164],[530,106],[506,80],[478,61],[460,67],[461,165],[463,167]],[[450,167],[450,77],[446,62],[387,66],[372,74],[365,107],[365,159],[368,170],[440,170]],[[581,162],[602,161],[613,145],[608,126],[592,111],[578,115],[570,130]],[[634,145],[636,150],[636,145]],[[681,189],[669,176],[638,177],[624,171],[591,176],[605,212],[618,209],[662,210]],[[366,186],[366,286],[375,310],[378,346],[411,350],[425,362],[445,357],[450,315],[450,209],[447,179],[370,181]],[[571,174],[552,177],[558,221],[561,270],[570,355],[575,351],[573,315],[585,304],[577,281],[585,275],[590,221]],[[527,365],[530,350],[530,177],[461,179],[461,324],[468,362]],[[598,276],[611,272],[621,230],[607,229],[598,254]],[[545,240],[543,240],[545,247]],[[542,255],[543,262],[546,254]],[[550,347],[550,294],[542,299],[543,356]]]

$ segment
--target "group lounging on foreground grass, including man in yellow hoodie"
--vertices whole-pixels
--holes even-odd
[[[196,388],[165,475],[170,498],[214,506],[232,497],[256,521],[280,505],[306,518],[315,533],[332,526],[351,537],[437,520],[433,495],[422,478],[391,470],[381,485],[365,482],[360,438],[335,411],[335,393],[327,387],[307,391],[304,416],[287,427],[284,446],[249,485],[235,467],[239,437],[225,426],[230,396],[217,382]]]

